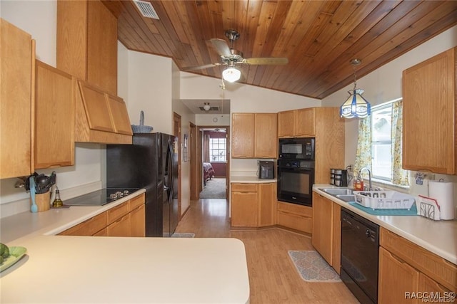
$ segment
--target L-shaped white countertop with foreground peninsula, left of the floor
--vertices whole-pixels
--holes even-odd
[[[1,242],[27,253],[0,273],[0,303],[248,303],[238,239],[54,235],[142,192],[1,219]]]

